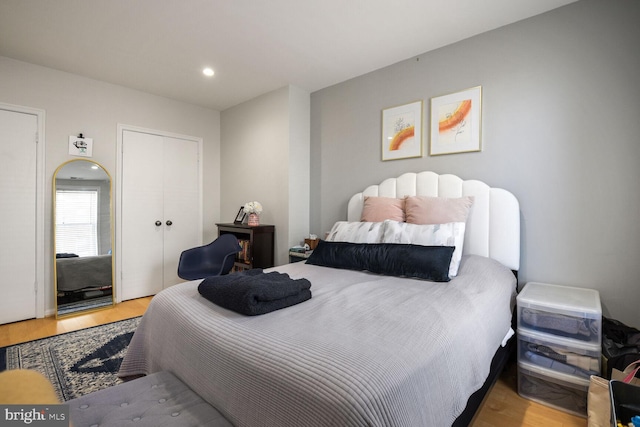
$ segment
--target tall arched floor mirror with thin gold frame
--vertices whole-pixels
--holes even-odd
[[[56,317],[112,306],[111,177],[98,163],[70,160],[53,176]]]

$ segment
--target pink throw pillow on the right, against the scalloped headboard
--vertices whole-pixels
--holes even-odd
[[[411,224],[467,222],[472,204],[473,197],[411,196],[405,200],[405,214]]]

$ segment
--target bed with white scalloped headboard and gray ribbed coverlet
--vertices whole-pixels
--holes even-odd
[[[407,173],[354,195],[345,223],[362,222],[368,200],[407,196],[473,197],[450,281],[287,264],[272,270],[308,279],[312,298],[260,316],[186,282],[153,298],[119,375],[170,371],[236,426],[467,425],[512,333],[518,202],[479,181]]]

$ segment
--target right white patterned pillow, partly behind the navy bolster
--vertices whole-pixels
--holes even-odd
[[[409,224],[387,220],[384,222],[382,243],[408,243],[421,246],[455,246],[449,265],[449,277],[458,274],[464,244],[464,222],[446,224]]]

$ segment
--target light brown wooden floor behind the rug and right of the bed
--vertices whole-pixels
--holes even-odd
[[[150,301],[151,297],[126,301],[115,308],[63,320],[48,317],[0,325],[0,347],[139,316],[147,309]],[[585,418],[556,411],[520,397],[517,393],[515,366],[510,365],[487,396],[472,427],[586,427],[586,425]]]

